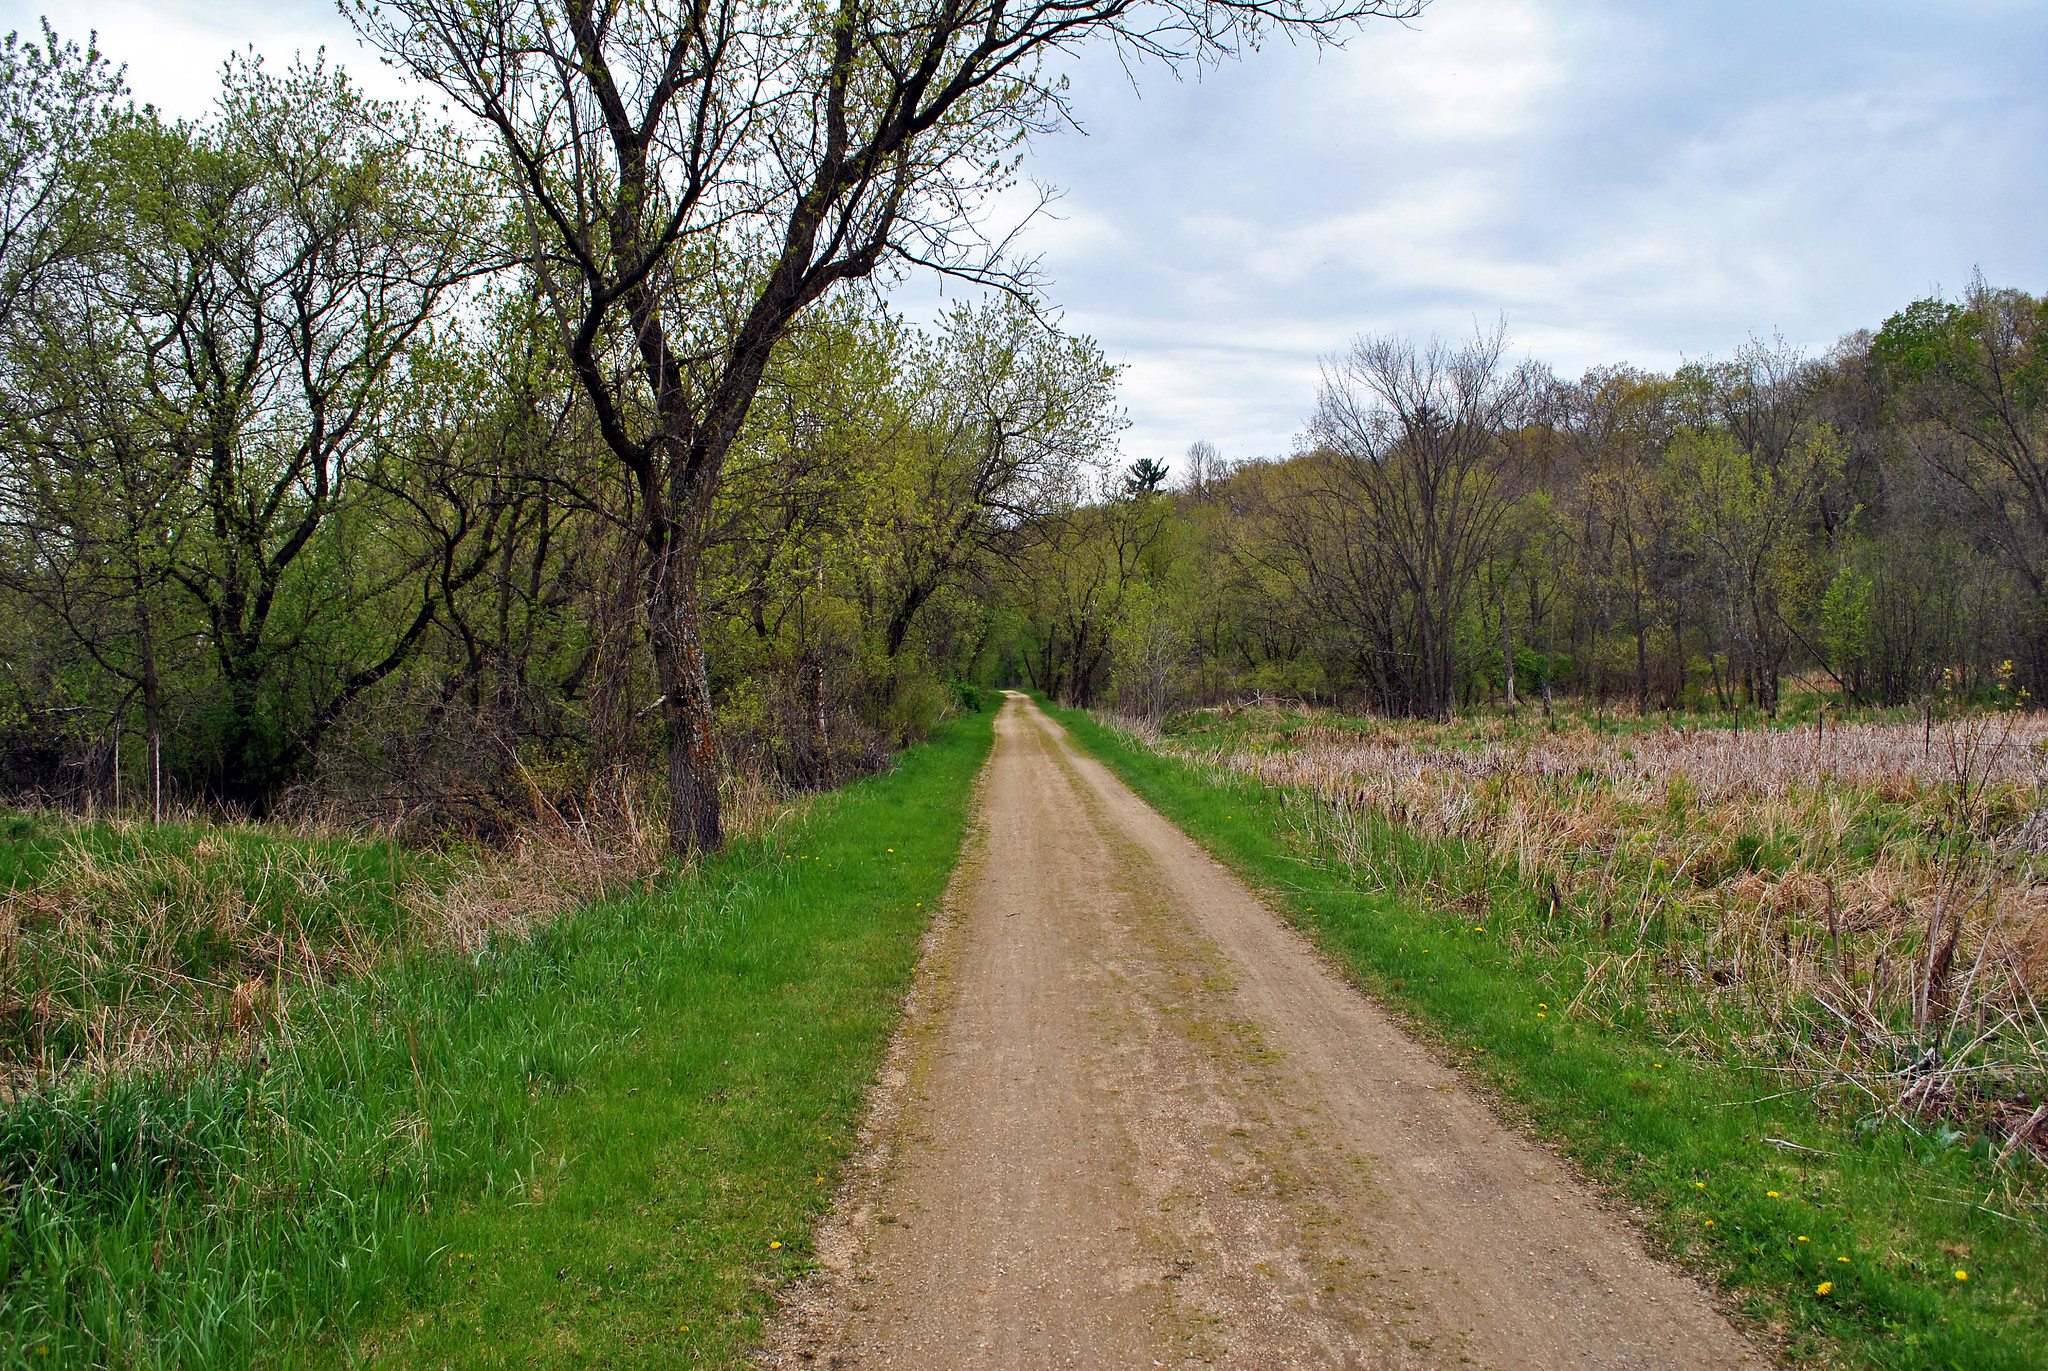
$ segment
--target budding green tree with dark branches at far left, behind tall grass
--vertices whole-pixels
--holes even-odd
[[[100,525],[66,508],[111,496],[137,549],[133,613],[154,615],[158,584],[197,611],[217,672],[209,771],[238,803],[268,803],[418,650],[444,590],[432,553],[393,562],[381,469],[416,344],[483,268],[457,154],[326,68],[229,64],[209,121],[133,111],[72,164],[88,271],[10,330],[14,490],[35,492],[18,523],[45,543],[78,531],[84,566]],[[137,619],[133,666],[90,646],[141,684],[152,740],[158,639]]]

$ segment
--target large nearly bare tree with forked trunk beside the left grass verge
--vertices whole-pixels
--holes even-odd
[[[358,0],[362,33],[496,131],[575,375],[639,498],[670,842],[721,844],[698,576],[776,342],[836,285],[1004,279],[981,236],[1090,41],[1204,61],[1423,0]],[[1016,277],[1001,281],[1018,285]]]

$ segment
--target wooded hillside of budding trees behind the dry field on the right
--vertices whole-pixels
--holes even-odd
[[[1573,691],[1776,711],[1794,674],[1862,705],[2040,699],[2044,320],[1976,281],[1827,357],[1751,340],[1577,381],[1509,365],[1501,334],[1360,338],[1294,455],[1190,449],[1147,570],[1104,609],[1143,615],[1143,654],[1055,648],[1085,635],[1036,615],[1014,670],[1145,709],[1266,691],[1442,715]],[[1044,543],[1038,576],[1067,555]]]

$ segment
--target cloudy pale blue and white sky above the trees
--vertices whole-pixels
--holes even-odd
[[[395,78],[319,0],[0,0],[98,29],[137,98],[199,115],[221,57],[322,43]],[[1128,455],[1284,453],[1317,359],[1360,332],[1468,334],[1577,373],[1825,350],[1972,268],[2048,289],[2042,0],[1434,0],[1341,51],[1284,43],[1133,90],[1073,68],[1085,135],[1028,232],[1067,326],[1126,365]],[[930,318],[930,285],[901,293]]]

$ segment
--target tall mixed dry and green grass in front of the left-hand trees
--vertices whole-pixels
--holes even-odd
[[[735,775],[731,830],[791,797]],[[262,1051],[295,1000],[406,953],[479,955],[672,863],[657,797],[627,777],[575,805],[532,793],[500,844],[401,844],[336,814],[246,824],[186,812],[16,814],[33,873],[0,896],[0,1103],[84,1074],[182,1070]]]

